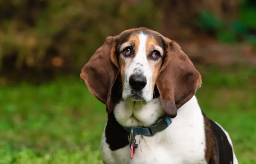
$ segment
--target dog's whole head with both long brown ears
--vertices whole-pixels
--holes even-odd
[[[106,38],[80,77],[111,113],[117,101],[152,101],[159,93],[174,118],[201,86],[201,75],[179,44],[145,27]]]

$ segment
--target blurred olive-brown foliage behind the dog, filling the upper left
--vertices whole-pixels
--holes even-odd
[[[161,20],[159,10],[151,0],[138,3],[2,0],[0,60],[5,64],[5,56],[13,56],[11,61],[7,57],[6,64],[15,63],[16,69],[24,66],[81,69],[108,35],[139,26],[156,29]]]

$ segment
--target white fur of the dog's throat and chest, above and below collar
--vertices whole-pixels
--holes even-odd
[[[125,104],[121,101],[114,109],[114,115],[122,125],[153,123],[162,113],[159,99],[140,104],[138,107],[141,108],[129,108],[131,104]],[[156,116],[151,116],[154,112]],[[132,114],[133,123],[129,118]],[[195,96],[179,109],[178,115],[165,130],[150,137],[135,136],[138,148],[133,159],[130,159],[129,145],[111,151],[104,133],[105,130],[101,140],[101,156],[106,164],[206,164],[204,117]]]

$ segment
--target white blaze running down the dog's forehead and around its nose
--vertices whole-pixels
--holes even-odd
[[[149,102],[152,100],[153,97],[153,89],[152,89],[152,76],[153,72],[150,69],[148,60],[147,60],[147,35],[146,34],[139,34],[139,48],[137,50],[137,54],[132,60],[131,65],[129,68],[127,68],[124,72],[124,89],[122,93],[122,97],[124,100],[129,97],[131,94],[132,88],[129,84],[129,78],[130,76],[135,72],[136,70],[141,70],[143,72],[143,75],[147,79],[147,85],[142,89],[142,96],[144,97],[146,102]]]

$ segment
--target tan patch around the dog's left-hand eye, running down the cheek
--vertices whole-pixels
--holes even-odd
[[[125,70],[127,68],[129,68],[129,66],[132,63],[132,58],[135,57],[138,48],[139,48],[139,37],[138,35],[130,35],[120,46],[119,48],[119,67],[120,67],[120,74],[121,74],[121,80],[122,80],[122,85],[124,86],[124,76],[125,76]],[[124,54],[122,54],[122,51],[120,51],[121,49],[124,49],[127,46],[131,46],[132,50],[131,50],[131,56],[130,57],[125,57]]]

